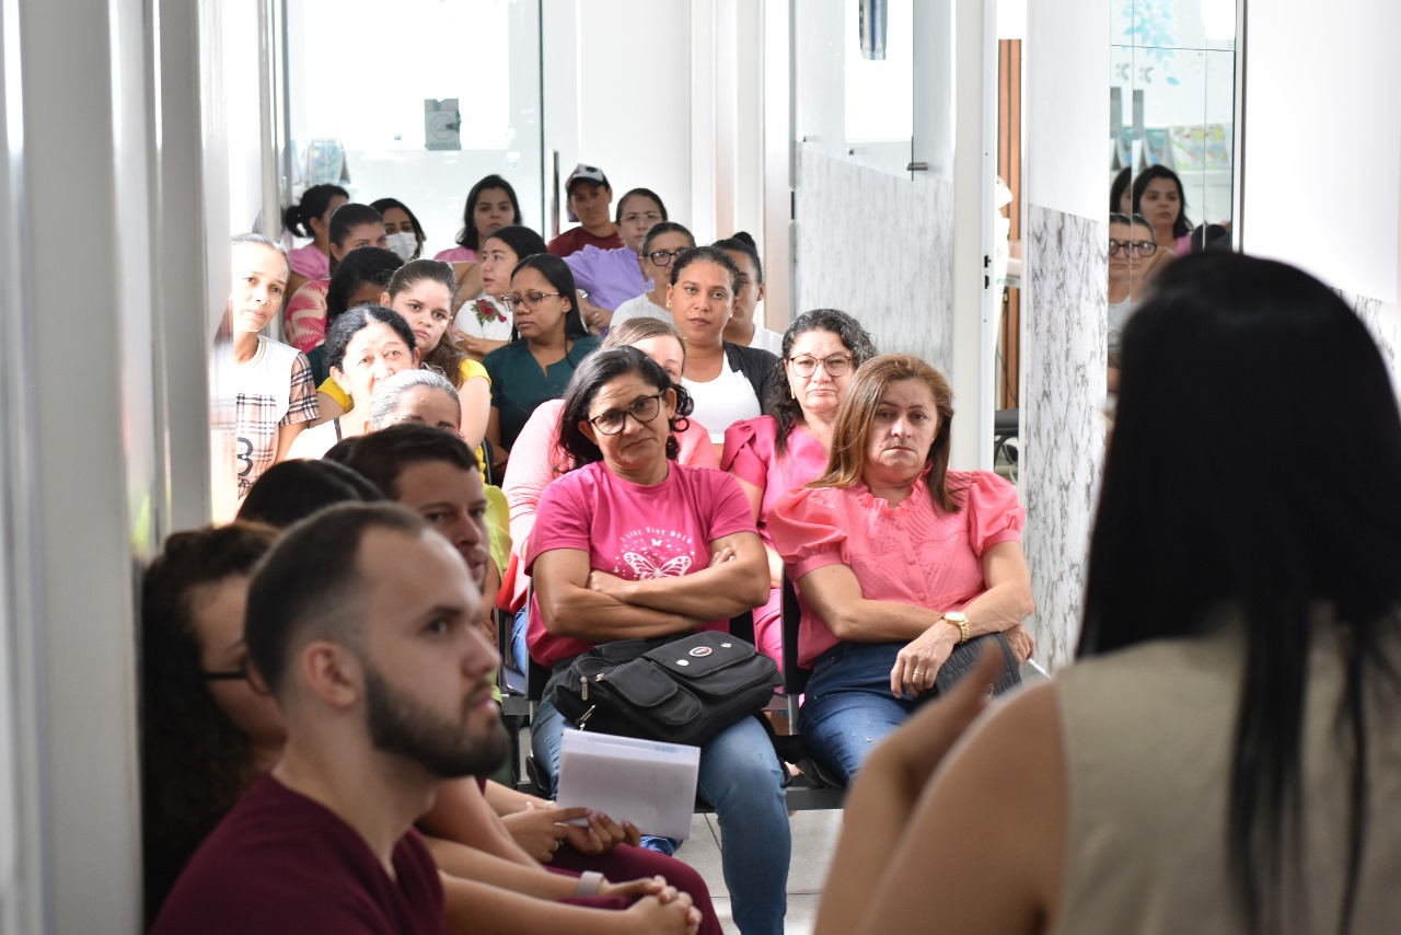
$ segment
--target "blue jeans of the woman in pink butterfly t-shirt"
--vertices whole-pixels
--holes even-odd
[[[552,698],[553,684],[545,687],[531,728],[531,750],[551,778],[551,795],[559,784],[560,737],[573,726]],[[773,744],[754,718],[726,728],[700,747],[696,788],[720,820],[724,885],[734,922],[745,935],[783,932],[792,838],[782,782]]]

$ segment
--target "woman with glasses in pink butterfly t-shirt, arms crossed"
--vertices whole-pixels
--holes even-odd
[[[636,348],[598,350],[574,371],[559,442],[580,467],[545,488],[525,552],[535,582],[527,642],[556,677],[597,643],[724,629],[768,600],[764,542],[738,481],[674,460],[672,433],[689,411],[686,391]],[[552,782],[569,726],[546,685],[531,746]],[[700,747],[696,791],[716,809],[744,932],[783,931],[792,838],[782,781],[757,718]]]

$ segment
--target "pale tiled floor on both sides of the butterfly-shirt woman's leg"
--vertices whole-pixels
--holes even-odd
[[[789,904],[783,931],[786,935],[808,935],[817,921],[817,901],[842,830],[842,813],[797,812],[789,819],[789,824],[793,828],[793,859],[789,864]],[[699,871],[710,887],[710,899],[724,931],[738,935],[740,929],[730,921],[730,890],[726,889],[720,871],[720,828],[713,814],[692,817],[691,840],[681,845],[677,858]]]

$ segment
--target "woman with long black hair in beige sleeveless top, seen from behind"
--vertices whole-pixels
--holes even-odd
[[[1376,343],[1307,273],[1208,254],[1164,271],[1122,363],[1076,664],[947,763],[972,680],[871,756],[820,934],[1401,918],[1401,415]]]

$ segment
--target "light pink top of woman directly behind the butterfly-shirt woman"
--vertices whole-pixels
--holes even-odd
[[[565,450],[559,447],[559,414],[563,411],[563,400],[546,400],[535,407],[525,428],[516,436],[511,460],[506,465],[506,478],[502,481],[502,492],[506,493],[506,503],[511,507],[511,551],[516,552],[521,568],[525,565],[525,547],[535,524],[539,495],[546,484],[565,474],[569,464]],[[681,446],[677,461],[686,467],[720,467],[715,457],[715,446],[710,444],[710,433],[699,422],[693,419],[688,422],[691,425],[686,430],[677,436],[677,443]],[[530,576],[524,572],[517,573],[513,606],[520,606],[528,587]]]

